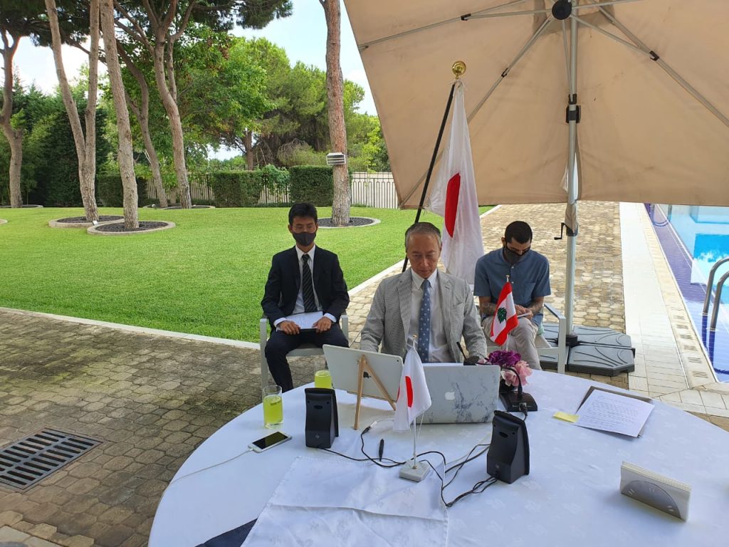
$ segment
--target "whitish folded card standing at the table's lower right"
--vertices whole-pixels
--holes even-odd
[[[674,481],[632,463],[623,462],[620,466],[620,494],[679,519],[688,519],[690,484]]]

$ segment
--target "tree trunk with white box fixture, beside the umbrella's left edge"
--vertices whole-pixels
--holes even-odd
[[[344,81],[339,61],[341,7],[339,0],[319,0],[327,19],[327,110],[332,152],[347,153],[347,130],[344,125]],[[349,224],[349,174],[347,166],[334,166],[334,202],[332,224]]]

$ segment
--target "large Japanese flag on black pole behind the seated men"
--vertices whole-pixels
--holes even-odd
[[[456,81],[451,138],[443,152],[427,209],[443,217],[441,257],[445,271],[472,285],[476,260],[483,256],[483,240],[464,85],[460,80]]]

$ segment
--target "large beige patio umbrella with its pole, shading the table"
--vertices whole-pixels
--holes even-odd
[[[456,60],[479,203],[564,202],[574,228],[578,198],[729,205],[729,1],[345,4],[402,207],[418,206]],[[574,251],[571,236],[570,330]]]

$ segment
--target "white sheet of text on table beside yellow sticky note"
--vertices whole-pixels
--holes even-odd
[[[595,389],[580,406],[575,425],[637,437],[652,410],[651,403]]]

